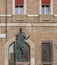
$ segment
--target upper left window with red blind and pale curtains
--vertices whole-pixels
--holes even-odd
[[[24,0],[15,0],[15,14],[24,14]]]

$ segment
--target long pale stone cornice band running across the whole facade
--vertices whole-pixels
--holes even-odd
[[[57,23],[0,23],[0,26],[57,26]]]

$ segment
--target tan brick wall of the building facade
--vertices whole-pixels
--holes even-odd
[[[57,0],[53,0],[53,15],[39,15],[40,0],[26,1],[26,14],[13,15],[13,0],[7,0],[7,23],[57,23]],[[0,15],[6,14],[5,0],[0,2]],[[38,16],[28,16],[38,15]],[[6,24],[6,17],[0,16],[0,24]],[[57,65],[57,26],[24,26],[22,27],[26,35],[30,35],[30,40],[33,42],[35,49],[34,65],[42,65],[41,62],[41,43],[42,41],[51,41],[53,43],[53,65]],[[7,30],[6,30],[7,29]],[[9,65],[5,61],[6,43],[15,37],[19,31],[19,26],[0,26],[0,34],[7,34],[7,38],[0,38],[0,65]],[[10,43],[10,41],[9,41]],[[11,44],[11,43],[10,43]],[[7,48],[8,49],[8,48]],[[8,55],[6,55],[8,56]],[[31,60],[32,61],[32,60]]]

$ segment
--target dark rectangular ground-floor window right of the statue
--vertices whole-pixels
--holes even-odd
[[[52,44],[51,43],[42,43],[42,62],[50,63],[53,59],[52,53]]]

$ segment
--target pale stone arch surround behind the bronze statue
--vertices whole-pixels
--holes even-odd
[[[5,43],[5,65],[9,65],[9,46],[11,46],[14,41],[15,37]],[[30,46],[30,65],[35,65],[35,45],[30,39],[25,40],[25,42]]]

